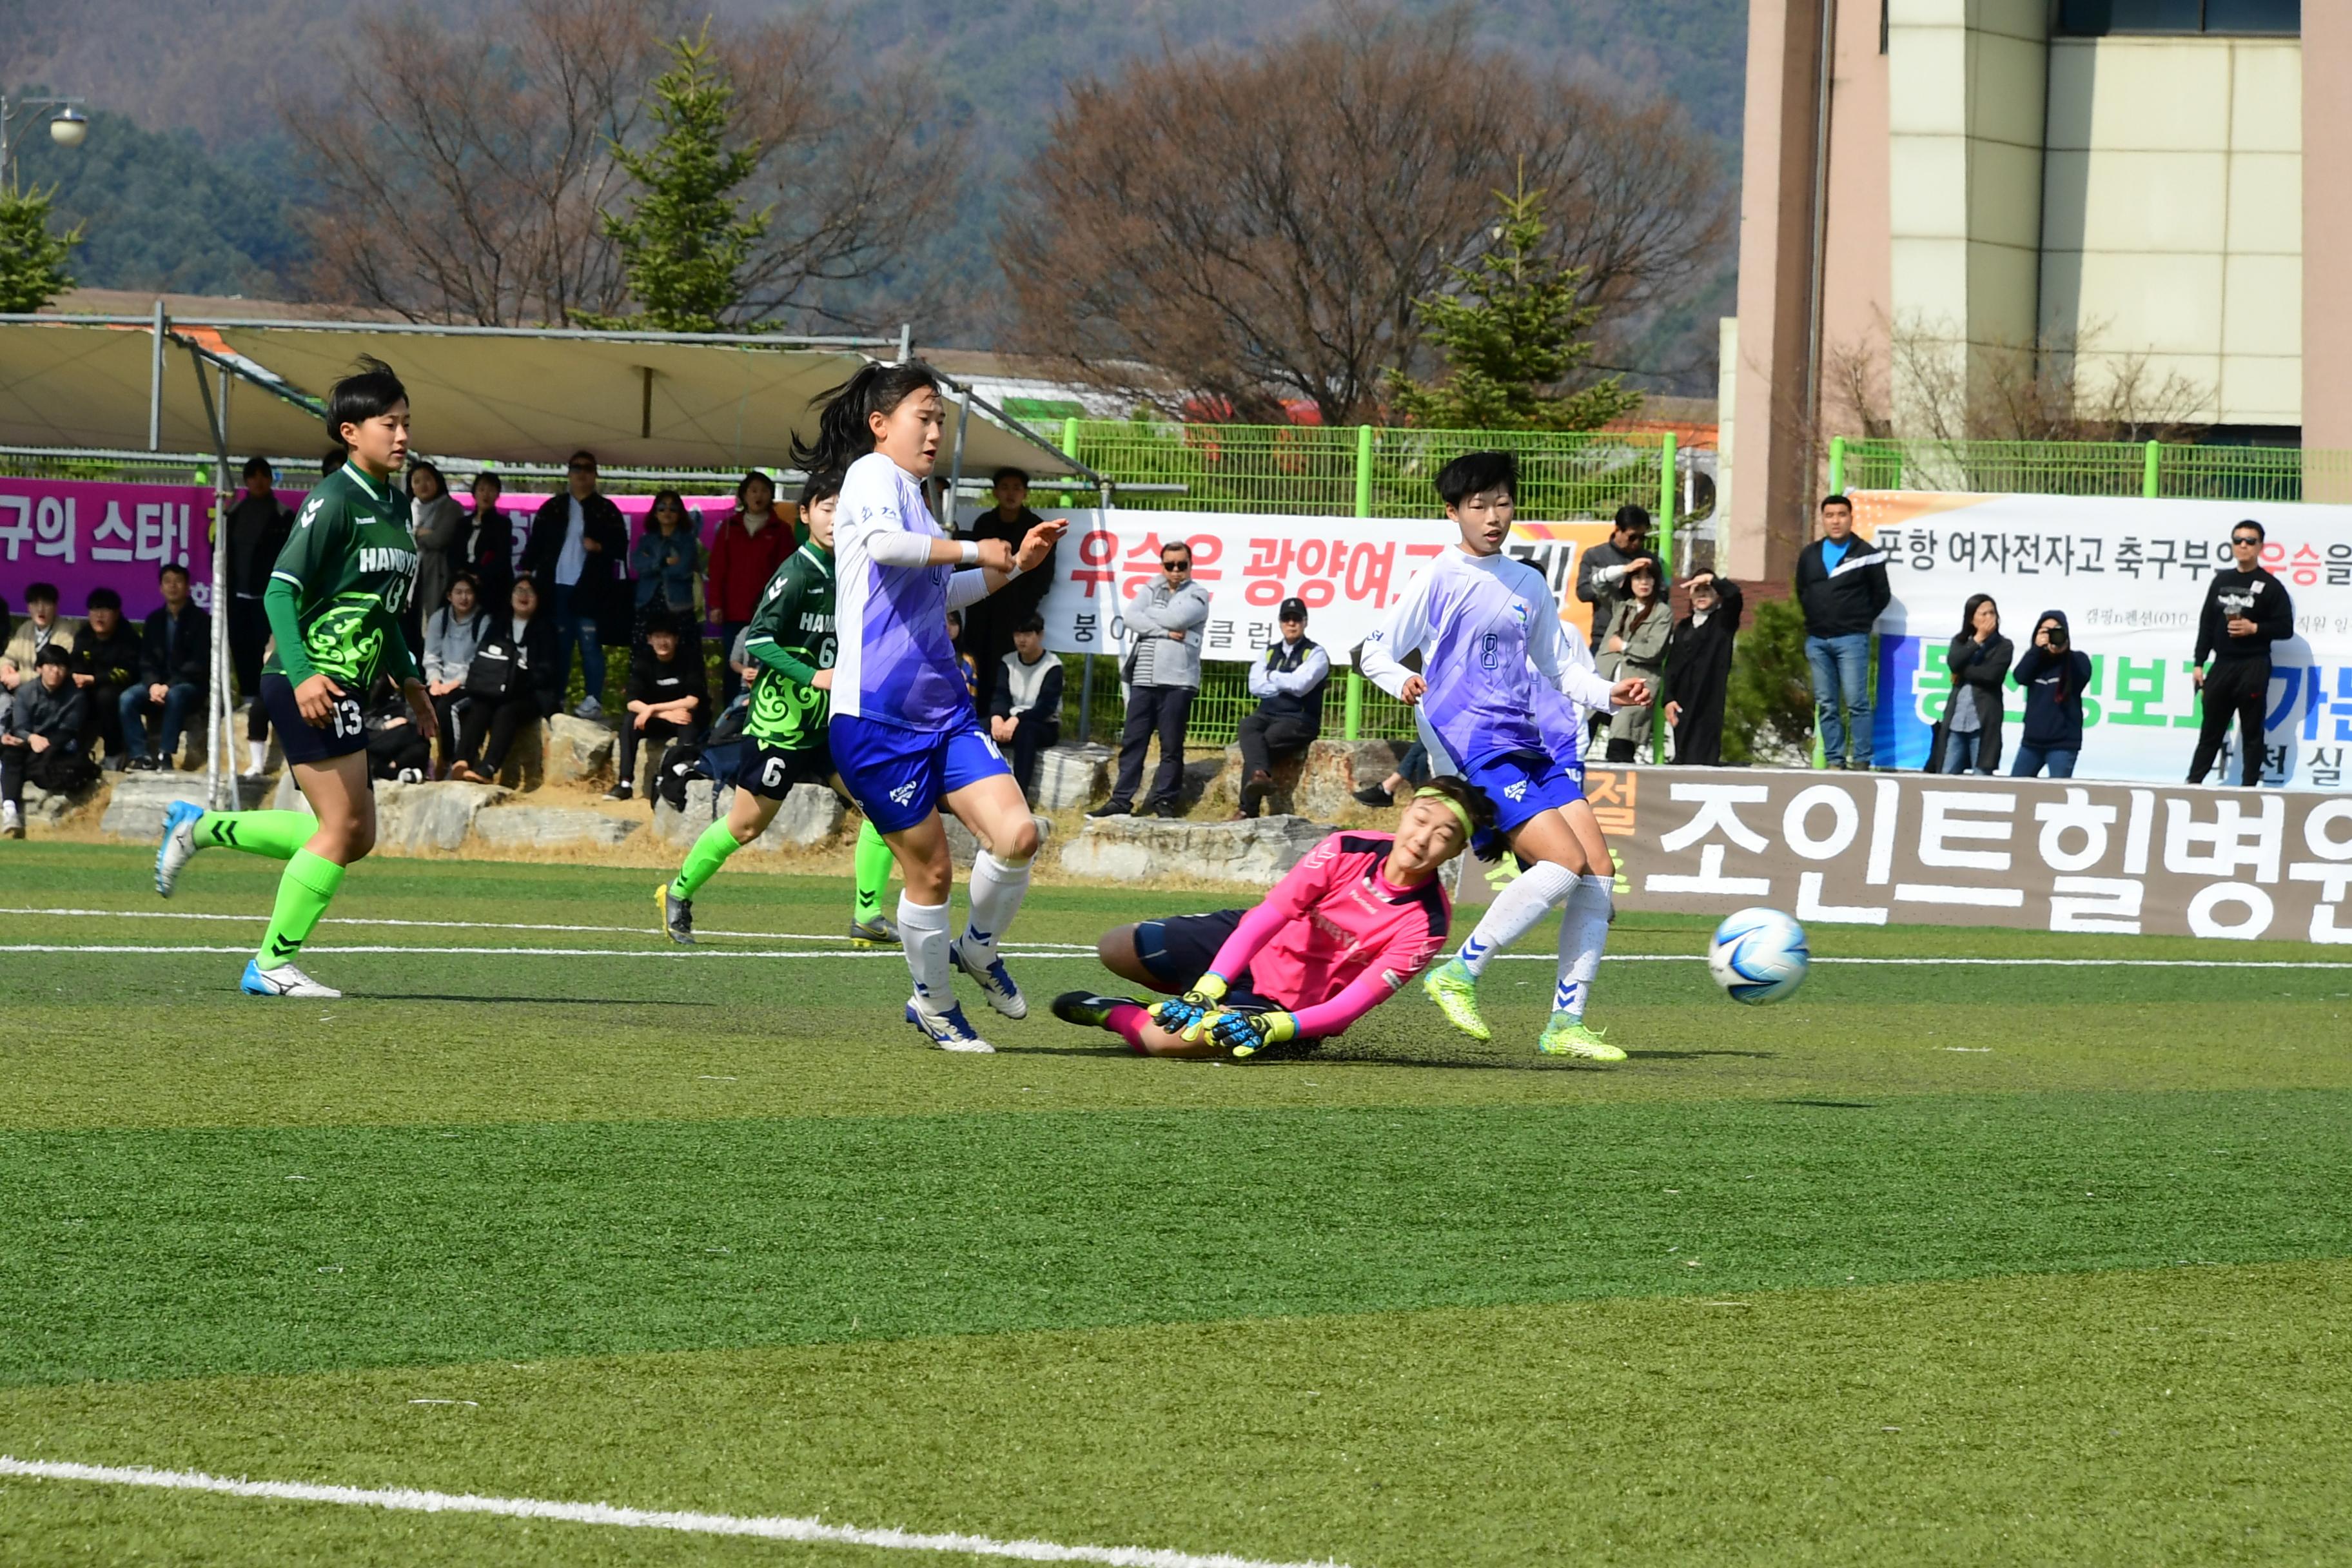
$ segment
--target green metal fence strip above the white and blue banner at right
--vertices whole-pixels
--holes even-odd
[[[1830,489],[1943,489],[2147,501],[2352,501],[2352,451],[2187,442],[1837,437]]]

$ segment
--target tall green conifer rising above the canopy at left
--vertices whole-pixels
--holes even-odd
[[[661,134],[647,150],[614,143],[612,153],[637,181],[626,219],[600,214],[604,235],[621,247],[630,299],[628,317],[581,317],[590,327],[652,327],[656,331],[720,331],[743,301],[743,263],[767,233],[769,209],[741,216],[734,188],[760,167],[755,143],[727,146],[734,85],[715,61],[710,24],[701,38],[670,45],[670,68],[654,78],[654,122]]]

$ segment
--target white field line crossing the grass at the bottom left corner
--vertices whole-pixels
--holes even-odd
[[[746,1514],[691,1514],[684,1509],[623,1509],[609,1502],[550,1502],[546,1497],[477,1497],[473,1493],[426,1493],[407,1486],[318,1486],[310,1481],[242,1481],[200,1469],[146,1469],[127,1465],[66,1465],[0,1455],[0,1476],[38,1481],[96,1481],[101,1486],[155,1486],[179,1493],[270,1497],[275,1502],[339,1502],[343,1507],[400,1509],[407,1514],[496,1514],[501,1519],[557,1519],[630,1530],[682,1530],[689,1535],[757,1535],[884,1552],[964,1552],[1007,1556],[1023,1563],[1110,1563],[1112,1568],[1338,1568],[1319,1563],[1268,1563],[1228,1552],[1164,1552],[1157,1547],[1063,1547],[1051,1540],[995,1540],[990,1535],[868,1530],[821,1519]]]

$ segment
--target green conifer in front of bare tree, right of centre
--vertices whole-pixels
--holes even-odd
[[[1592,360],[1602,308],[1576,303],[1585,268],[1543,254],[1543,193],[1522,181],[1496,202],[1494,244],[1477,266],[1449,266],[1451,289],[1421,301],[1449,376],[1392,376],[1397,414],[1435,430],[1592,430],[1639,409],[1616,376],[1569,386]]]

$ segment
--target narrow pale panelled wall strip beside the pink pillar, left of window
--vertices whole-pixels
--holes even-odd
[[[2046,0],[1891,0],[1886,19],[1893,329],[1971,369],[2034,334]],[[1898,386],[1898,433],[1905,414]]]

